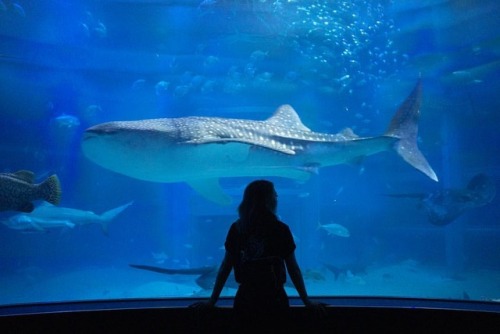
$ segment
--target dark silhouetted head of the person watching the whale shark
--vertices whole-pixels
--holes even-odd
[[[256,180],[245,188],[238,213],[244,224],[252,224],[256,217],[269,213],[275,216],[277,206],[278,195],[274,190],[274,184],[267,180]]]

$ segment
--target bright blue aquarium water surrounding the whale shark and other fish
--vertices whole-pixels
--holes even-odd
[[[419,78],[418,145],[439,183],[383,152],[321,168],[307,182],[269,177],[279,214],[296,237],[312,295],[498,300],[498,199],[435,226],[418,201],[384,194],[464,188],[477,173],[498,184],[500,5],[403,3],[0,0],[0,172],[28,169],[37,182],[57,174],[62,207],[100,214],[134,201],[107,235],[97,224],[48,233],[0,226],[0,304],[184,297],[175,289],[124,292],[189,279],[129,264],[192,268],[218,265],[223,255],[251,178],[222,178],[233,205],[221,207],[185,183],[141,181],[94,164],[80,148],[86,128],[159,117],[265,120],[291,104],[315,132],[351,127],[378,136]],[[318,228],[332,223],[350,237]],[[336,279],[325,264],[346,270]],[[106,280],[108,269],[116,276]],[[96,283],[76,293],[64,275],[79,272]],[[401,285],[422,285],[420,274],[440,288]]]

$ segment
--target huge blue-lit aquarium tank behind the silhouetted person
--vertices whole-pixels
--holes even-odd
[[[498,305],[499,10],[0,0],[0,306],[209,296],[257,179],[310,296]]]

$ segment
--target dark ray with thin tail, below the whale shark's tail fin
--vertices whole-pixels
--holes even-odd
[[[448,225],[468,210],[482,207],[495,198],[496,185],[484,173],[474,175],[465,188],[449,188],[428,193],[385,194],[396,198],[414,198],[426,211],[433,225]]]

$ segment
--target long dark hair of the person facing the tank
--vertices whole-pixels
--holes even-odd
[[[278,219],[277,206],[277,194],[272,182],[256,180],[249,183],[238,207],[240,232],[248,234],[271,227]]]

